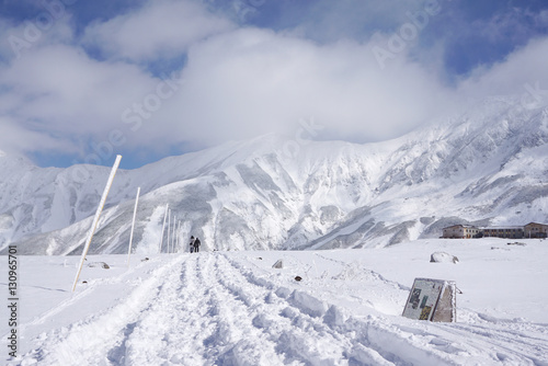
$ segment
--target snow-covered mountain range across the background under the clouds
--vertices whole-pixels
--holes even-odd
[[[331,249],[438,237],[456,222],[545,222],[547,141],[547,107],[498,98],[385,142],[229,142],[118,171],[90,253],[127,251],[138,186],[141,253],[158,252],[167,204],[183,250],[191,235],[207,250]],[[109,171],[0,156],[0,249],[79,253]]]

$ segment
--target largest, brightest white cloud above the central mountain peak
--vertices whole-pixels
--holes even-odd
[[[184,90],[158,114],[176,115],[181,136],[215,142],[290,131],[307,117],[342,135],[388,138],[449,100],[435,77],[404,55],[381,70],[370,45],[319,46],[256,28],[192,47],[183,75]]]

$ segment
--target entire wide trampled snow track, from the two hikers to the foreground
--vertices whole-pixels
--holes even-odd
[[[547,365],[548,354],[541,324],[352,317],[229,253],[172,259],[117,305],[39,339],[22,365]]]

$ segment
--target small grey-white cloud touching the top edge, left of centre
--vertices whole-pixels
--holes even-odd
[[[153,60],[183,54],[194,42],[232,26],[196,1],[159,0],[89,26],[83,42],[110,57]]]

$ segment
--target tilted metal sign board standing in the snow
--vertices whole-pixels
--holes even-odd
[[[456,285],[452,281],[415,278],[403,317],[416,320],[456,321]]]

